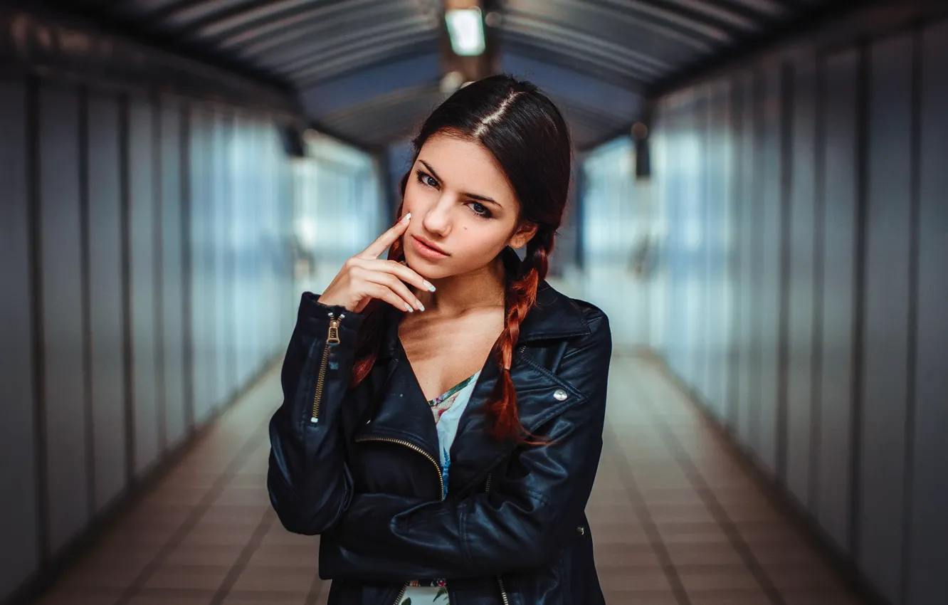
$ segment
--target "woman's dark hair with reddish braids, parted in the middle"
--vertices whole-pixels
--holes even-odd
[[[483,145],[513,186],[520,203],[520,224],[538,228],[526,245],[520,270],[505,278],[503,331],[491,351],[501,377],[487,405],[494,421],[493,434],[499,439],[524,442],[526,432],[520,426],[510,365],[520,337],[520,322],[537,301],[537,287],[546,277],[547,259],[566,207],[573,162],[569,129],[556,105],[537,86],[501,75],[470,83],[441,103],[412,141],[410,166],[428,138],[439,133]],[[410,169],[401,180],[403,201],[396,217],[402,214],[409,176]],[[404,260],[401,239],[389,248],[388,258]],[[359,334],[353,386],[369,374],[378,355],[385,328],[383,314],[378,312],[381,304],[385,303],[374,300],[364,310],[367,317]]]

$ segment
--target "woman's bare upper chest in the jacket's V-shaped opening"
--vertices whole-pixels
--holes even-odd
[[[403,321],[399,339],[425,399],[481,370],[502,329],[500,309],[449,321]]]

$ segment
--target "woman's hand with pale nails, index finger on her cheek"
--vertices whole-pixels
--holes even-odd
[[[415,309],[424,311],[425,307],[421,301],[411,293],[405,283],[431,292],[434,291],[434,286],[408,266],[378,258],[392,242],[402,236],[405,229],[408,229],[410,218],[409,212],[391,229],[379,235],[369,247],[346,260],[332,283],[319,297],[319,302],[330,306],[344,306],[354,313],[359,313],[372,299],[381,299],[409,312]]]

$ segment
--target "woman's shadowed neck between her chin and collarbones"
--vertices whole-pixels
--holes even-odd
[[[504,270],[498,257],[494,262],[461,275],[429,280],[434,292],[415,291],[426,314],[460,316],[484,307],[503,308]]]

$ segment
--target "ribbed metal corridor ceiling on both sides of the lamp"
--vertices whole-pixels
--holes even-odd
[[[443,99],[442,0],[73,0],[87,14],[298,92],[326,131],[401,139]],[[806,16],[817,0],[495,0],[500,67],[536,81],[585,148],[635,119],[643,94]]]

